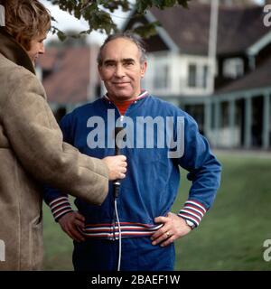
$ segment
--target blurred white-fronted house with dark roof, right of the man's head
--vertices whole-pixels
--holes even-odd
[[[146,40],[143,87],[182,107],[216,147],[270,148],[271,29],[262,6],[220,5],[214,67],[210,5],[131,14],[123,30],[158,21]],[[210,68],[215,79],[210,78]]]

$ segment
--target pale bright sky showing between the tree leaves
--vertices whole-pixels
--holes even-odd
[[[264,0],[254,0],[257,4],[263,5]],[[58,23],[53,23],[55,26],[57,26],[59,29],[62,31],[67,31],[67,30],[76,30],[76,31],[84,31],[89,29],[88,23],[86,23],[83,20],[78,20],[72,15],[70,15],[67,12],[62,11],[57,5],[51,5],[51,2],[48,0],[41,0],[43,5],[45,5],[50,11],[51,15],[58,21]],[[125,22],[127,17],[127,14],[124,14],[121,11],[116,11],[114,14],[112,14],[112,19],[115,23],[117,23],[118,26],[120,26],[122,23]],[[88,36],[88,42],[92,43],[98,43],[101,44],[107,35],[97,33],[97,32],[92,32]],[[50,42],[51,39],[57,39],[56,35],[51,35],[51,33],[48,34],[46,42]]]

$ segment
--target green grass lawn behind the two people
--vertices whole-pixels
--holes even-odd
[[[270,270],[263,243],[271,239],[271,158],[218,154],[220,191],[201,226],[176,242],[176,270]],[[174,210],[187,199],[182,186]],[[44,270],[72,270],[72,243],[44,207]]]

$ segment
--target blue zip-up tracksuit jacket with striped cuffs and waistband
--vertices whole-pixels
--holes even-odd
[[[114,127],[119,117],[117,107],[112,102],[107,98],[99,98],[63,117],[61,130],[64,141],[77,147],[81,153],[100,159],[114,155]],[[188,200],[179,216],[198,226],[215,199],[220,185],[221,167],[211,154],[207,140],[199,133],[195,121],[182,109],[146,92],[144,98],[139,98],[128,107],[125,117],[125,122],[130,124],[126,125],[130,127],[129,143],[121,149],[121,154],[126,155],[127,172],[126,178],[121,181],[117,198],[122,237],[146,237],[160,228],[159,224],[154,223],[154,218],[166,215],[172,208],[179,188],[179,166],[189,172],[188,179],[192,181]],[[142,131],[139,127],[145,127],[142,124],[148,119],[146,117],[158,117],[156,120],[164,121],[164,126],[155,125],[153,133],[148,135],[145,128],[144,135],[140,136]],[[173,129],[166,129],[167,117],[173,120]],[[178,138],[178,134],[181,138]],[[166,136],[161,141],[163,135]],[[124,141],[127,141],[126,138]],[[180,152],[175,149],[175,153],[180,155],[169,158],[169,152],[174,149],[169,149],[169,144],[163,146],[167,139],[182,142],[183,154],[181,145],[178,147],[176,144]],[[96,144],[98,147],[94,147]],[[53,188],[45,189],[44,200],[50,205],[56,220],[71,210],[67,195]],[[79,199],[75,200],[75,204],[86,219],[86,238],[117,238],[112,183],[107,199],[101,206],[89,205]]]

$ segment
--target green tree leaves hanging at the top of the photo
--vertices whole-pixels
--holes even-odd
[[[89,30],[81,33],[91,33],[99,31],[102,33],[116,33],[117,24],[112,19],[112,14],[121,9],[123,12],[135,10],[135,16],[145,14],[146,10],[151,7],[166,9],[174,5],[188,6],[190,0],[136,0],[131,4],[128,0],[47,0],[53,5],[59,5],[61,10],[69,12],[78,19],[85,19],[89,23]],[[135,33],[143,37],[151,36],[155,33],[154,27],[159,23],[150,23],[145,26],[136,27]],[[52,27],[53,33],[57,33],[61,40],[66,38],[65,33],[57,27]]]

